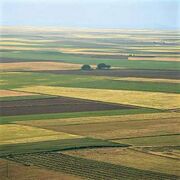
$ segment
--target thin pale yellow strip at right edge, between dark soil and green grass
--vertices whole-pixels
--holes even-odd
[[[136,78],[136,77],[122,77],[122,78],[112,78],[112,80],[118,81],[137,81],[137,82],[157,82],[157,83],[175,83],[179,84],[178,79],[155,79],[155,78]]]

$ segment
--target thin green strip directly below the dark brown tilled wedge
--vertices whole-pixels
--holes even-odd
[[[107,110],[107,111],[4,116],[0,118],[0,124],[7,124],[7,123],[13,123],[15,121],[28,121],[28,120],[48,120],[48,119],[64,119],[64,118],[92,117],[92,116],[93,117],[114,116],[114,115],[141,114],[141,113],[144,114],[144,113],[157,113],[157,112],[163,112],[163,111],[156,109],[140,108],[140,109],[122,109],[122,110]]]

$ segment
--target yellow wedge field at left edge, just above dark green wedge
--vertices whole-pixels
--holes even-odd
[[[23,125],[0,125],[0,145],[74,138],[81,136]]]

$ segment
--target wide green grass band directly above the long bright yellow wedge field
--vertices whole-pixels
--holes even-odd
[[[179,84],[157,82],[116,81],[113,77],[84,76],[84,75],[58,75],[50,73],[1,73],[1,80],[5,82],[0,89],[15,89],[24,86],[48,85],[63,87],[135,90],[150,92],[180,93]],[[43,92],[42,92],[43,93]]]

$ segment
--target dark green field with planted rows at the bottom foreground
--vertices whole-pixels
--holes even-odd
[[[9,160],[22,164],[35,165],[68,174],[85,177],[86,179],[109,180],[175,180],[177,176],[144,171],[135,168],[114,165],[110,163],[73,157],[62,153],[34,153],[7,156]]]

